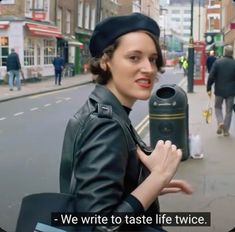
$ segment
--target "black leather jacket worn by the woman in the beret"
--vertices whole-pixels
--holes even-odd
[[[79,199],[78,212],[141,212],[130,193],[147,173],[136,157],[136,145],[148,152],[131,126],[128,114],[104,86],[96,85],[88,101],[68,122],[60,167],[60,191],[72,190]],[[75,165],[74,165],[75,164]],[[130,200],[131,199],[131,200]],[[148,213],[159,211],[158,201]],[[116,231],[98,227],[96,231]],[[137,231],[134,227],[128,230]],[[125,231],[122,225],[118,231]]]

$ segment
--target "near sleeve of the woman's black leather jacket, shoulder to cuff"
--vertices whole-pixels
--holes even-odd
[[[124,195],[128,146],[121,126],[114,120],[93,116],[84,131],[81,149],[75,151],[78,211],[142,212],[137,199]]]

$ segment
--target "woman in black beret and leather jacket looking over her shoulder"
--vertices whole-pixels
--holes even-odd
[[[69,192],[71,176],[76,180],[78,212],[155,218],[160,194],[192,192],[185,181],[172,179],[181,150],[161,140],[150,151],[129,119],[136,100],[150,97],[162,68],[159,35],[158,24],[140,13],[106,18],[94,29],[90,70],[97,84],[68,122],[60,167],[61,192]],[[91,227],[87,231],[165,231],[160,225],[125,223]]]

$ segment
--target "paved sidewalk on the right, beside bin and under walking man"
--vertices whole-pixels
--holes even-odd
[[[206,124],[202,111],[208,104],[205,86],[194,86],[187,94],[189,131],[202,139],[204,159],[181,162],[176,178],[187,180],[193,195],[168,194],[160,197],[163,212],[210,212],[210,227],[166,227],[169,232],[228,232],[235,227],[235,114],[231,136],[216,134],[216,120]],[[213,100],[214,102],[214,100]]]

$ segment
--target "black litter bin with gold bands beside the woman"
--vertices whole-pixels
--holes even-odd
[[[175,84],[161,85],[149,100],[150,145],[170,140],[182,149],[182,160],[189,157],[188,99]]]

